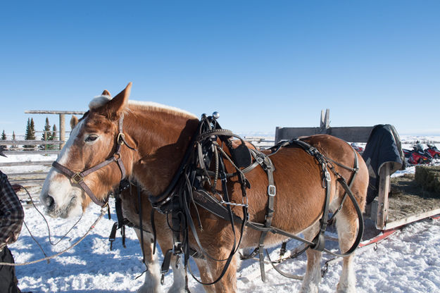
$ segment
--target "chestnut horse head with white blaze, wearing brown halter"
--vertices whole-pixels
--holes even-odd
[[[133,151],[123,144],[134,142],[123,130],[121,135],[131,86],[130,82],[113,99],[105,90],[90,102],[80,120],[71,120],[73,130],[40,194],[50,216],[67,218],[82,213],[91,200],[104,201],[121,177],[132,172]]]

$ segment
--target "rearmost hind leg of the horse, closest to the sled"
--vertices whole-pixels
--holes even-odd
[[[344,208],[336,218],[339,248],[341,249],[341,252],[344,253],[351,248],[351,245],[356,238],[356,233],[358,230],[358,218],[356,213],[348,213]],[[356,275],[353,267],[353,256],[354,253],[344,257],[337,292],[356,292]]]

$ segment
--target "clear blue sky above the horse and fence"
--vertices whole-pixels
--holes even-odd
[[[0,132],[132,99],[234,132],[390,123],[440,135],[440,1],[1,1]],[[58,124],[58,116],[49,116]],[[67,119],[68,120],[68,119]]]

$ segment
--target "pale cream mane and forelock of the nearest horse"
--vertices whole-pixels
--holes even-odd
[[[106,104],[108,101],[111,100],[111,96],[103,95],[103,96],[95,96],[92,101],[89,103],[89,109],[94,110],[96,108],[99,108],[100,106],[103,106],[103,104]],[[180,108],[172,107],[172,106],[165,106],[163,104],[159,104],[153,101],[128,101],[128,107],[127,111],[130,111],[131,108],[138,108],[139,110],[143,111],[158,111],[158,112],[164,112],[164,113],[170,113],[175,114],[177,116],[182,117],[188,117],[188,118],[196,118],[193,113],[190,113],[188,111],[184,111]]]

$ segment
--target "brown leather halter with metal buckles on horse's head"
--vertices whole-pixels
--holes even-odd
[[[95,204],[97,204],[98,206],[101,206],[101,207],[107,204],[108,196],[103,201],[99,200],[95,196],[95,194],[92,192],[92,190],[84,182],[84,177],[86,177],[87,175],[89,175],[91,173],[94,173],[95,171],[107,166],[110,163],[116,162],[116,163],[118,163],[118,167],[120,169],[121,180],[125,178],[126,171],[125,171],[124,164],[122,163],[122,158],[120,156],[120,148],[123,144],[125,144],[129,149],[132,149],[134,151],[136,151],[136,149],[134,147],[130,146],[129,144],[127,144],[127,141],[125,140],[125,135],[122,132],[123,120],[124,120],[124,114],[122,114],[119,119],[119,133],[118,133],[118,137],[116,137],[116,142],[118,143],[118,146],[116,147],[115,153],[110,158],[106,159],[106,161],[103,161],[102,163],[99,163],[98,165],[96,165],[92,168],[89,168],[87,170],[84,170],[82,172],[74,172],[73,170],[70,170],[69,168],[61,165],[57,161],[54,161],[54,163],[52,163],[52,166],[54,168],[56,168],[58,171],[63,173],[63,175],[65,175],[70,180],[72,180],[74,184],[80,185],[80,187],[84,190],[85,193],[87,193],[87,195],[90,197],[90,199],[92,199],[92,201]]]

